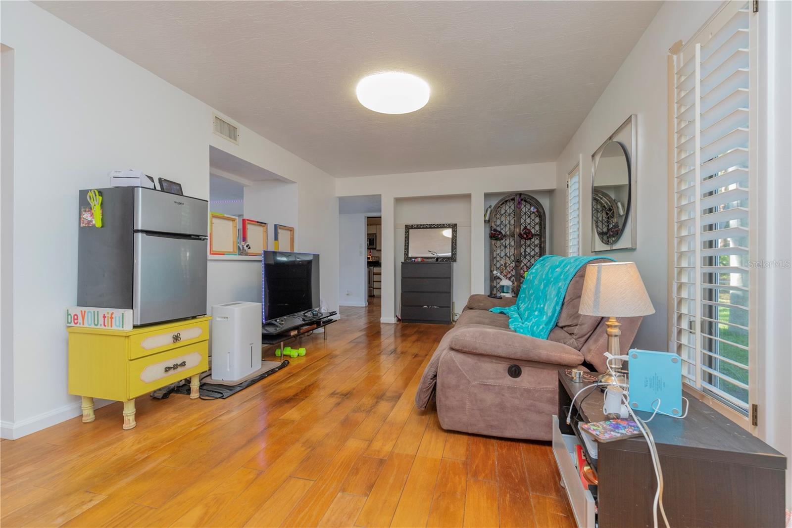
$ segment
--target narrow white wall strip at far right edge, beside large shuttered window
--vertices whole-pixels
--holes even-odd
[[[786,454],[786,507],[792,509],[792,2],[760,9],[760,229],[757,270],[758,434]]]

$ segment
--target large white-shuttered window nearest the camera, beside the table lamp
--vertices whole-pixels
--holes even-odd
[[[674,58],[671,343],[683,380],[744,416],[756,392],[757,42],[751,6],[729,2]]]

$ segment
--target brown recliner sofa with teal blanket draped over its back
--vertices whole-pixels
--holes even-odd
[[[605,319],[578,313],[584,275],[585,266],[569,283],[561,314],[546,340],[512,331],[507,315],[489,311],[510,306],[516,298],[471,295],[424,371],[415,395],[417,407],[426,408],[436,396],[444,429],[549,440],[550,416],[558,413],[558,369],[605,370]],[[641,319],[619,320],[621,350],[630,348]],[[509,374],[512,365],[520,367],[516,378]]]

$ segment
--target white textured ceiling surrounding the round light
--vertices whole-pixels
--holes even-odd
[[[661,4],[36,3],[336,177],[554,161]],[[426,107],[362,107],[381,70]]]

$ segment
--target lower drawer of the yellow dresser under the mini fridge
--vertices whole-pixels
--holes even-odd
[[[128,398],[206,370],[209,370],[209,343],[205,340],[133,359],[128,363]]]

